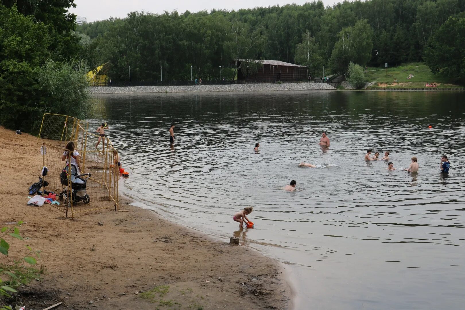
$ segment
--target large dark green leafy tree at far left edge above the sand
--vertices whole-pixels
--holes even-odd
[[[47,26],[0,5],[0,124],[31,131],[40,118],[37,73],[49,56]]]

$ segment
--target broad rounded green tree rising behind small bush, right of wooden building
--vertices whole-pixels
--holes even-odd
[[[353,27],[343,28],[329,59],[332,72],[345,73],[351,61],[365,65],[371,59],[372,35],[372,28],[366,20],[358,20]]]

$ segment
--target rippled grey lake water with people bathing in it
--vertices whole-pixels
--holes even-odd
[[[288,264],[296,309],[463,309],[464,95],[102,95],[93,97],[90,122],[110,126],[131,173],[123,194]],[[322,130],[328,149],[318,145]],[[380,158],[389,150],[397,169],[417,156],[419,172],[365,162],[368,148]],[[449,175],[439,170],[443,154]],[[283,191],[292,179],[297,191]],[[248,205],[255,228],[239,231],[233,214]]]

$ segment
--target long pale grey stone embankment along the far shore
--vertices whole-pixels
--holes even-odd
[[[131,92],[271,92],[313,90],[336,90],[336,88],[326,83],[89,87],[90,93],[98,94]]]

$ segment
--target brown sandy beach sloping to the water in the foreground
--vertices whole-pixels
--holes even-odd
[[[217,242],[150,210],[79,214],[27,206],[42,168],[37,138],[0,127],[0,225],[20,220],[24,241],[8,237],[11,262],[40,251],[45,273],[18,289],[27,309],[289,309],[290,288],[271,258]],[[102,222],[103,225],[99,225]],[[5,257],[0,257],[5,262]],[[11,303],[11,302],[10,302]],[[2,302],[0,302],[2,304]],[[11,303],[14,308],[14,302]]]

